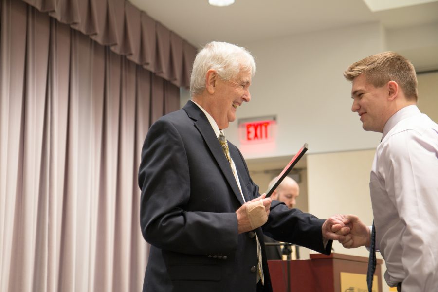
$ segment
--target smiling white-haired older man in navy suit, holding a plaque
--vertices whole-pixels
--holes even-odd
[[[330,231],[334,223],[342,226],[341,217],[324,221],[258,198],[242,154],[228,142],[230,166],[219,130],[250,101],[255,72],[254,58],[244,48],[207,44],[193,64],[192,100],[149,129],[139,169],[140,223],[151,244],[143,291],[272,291],[263,232],[325,254],[330,239],[344,238]],[[251,227],[251,200],[261,200],[260,214],[269,214],[263,229]],[[263,284],[256,268],[257,238]]]

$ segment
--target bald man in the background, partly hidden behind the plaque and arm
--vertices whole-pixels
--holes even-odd
[[[278,176],[272,179],[269,183],[268,189],[270,189],[274,183],[277,181]],[[277,186],[271,195],[273,200],[283,202],[289,209],[292,209],[296,205],[296,198],[300,195],[300,187],[298,183],[295,182],[289,176],[286,176],[284,180]],[[279,243],[278,241],[272,239],[271,237],[264,236],[265,243]],[[291,246],[286,247],[286,252],[291,253]],[[296,258],[298,259],[298,247],[295,247]],[[280,245],[266,245],[266,256],[268,259],[283,259],[283,250]]]

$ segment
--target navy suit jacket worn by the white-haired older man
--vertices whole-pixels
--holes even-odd
[[[242,154],[228,142],[246,201],[260,194]],[[324,220],[273,201],[262,228],[238,234],[244,203],[205,114],[189,101],[149,129],[139,169],[140,224],[151,244],[143,291],[256,291],[256,237],[262,246],[264,291],[272,291],[263,232],[329,254]]]

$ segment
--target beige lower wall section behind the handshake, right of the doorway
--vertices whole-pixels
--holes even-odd
[[[374,149],[308,155],[309,212],[320,218],[334,214],[355,214],[372,225],[373,211],[369,195],[369,173]],[[368,257],[365,247],[346,249],[333,242],[336,253]],[[382,259],[380,253],[377,257]],[[382,277],[385,271],[382,265]],[[389,287],[383,280],[383,291]]]

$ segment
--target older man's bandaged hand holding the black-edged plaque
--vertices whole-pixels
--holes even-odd
[[[265,198],[266,194],[244,203],[237,209],[237,230],[238,233],[254,230],[268,220],[271,198]]]

